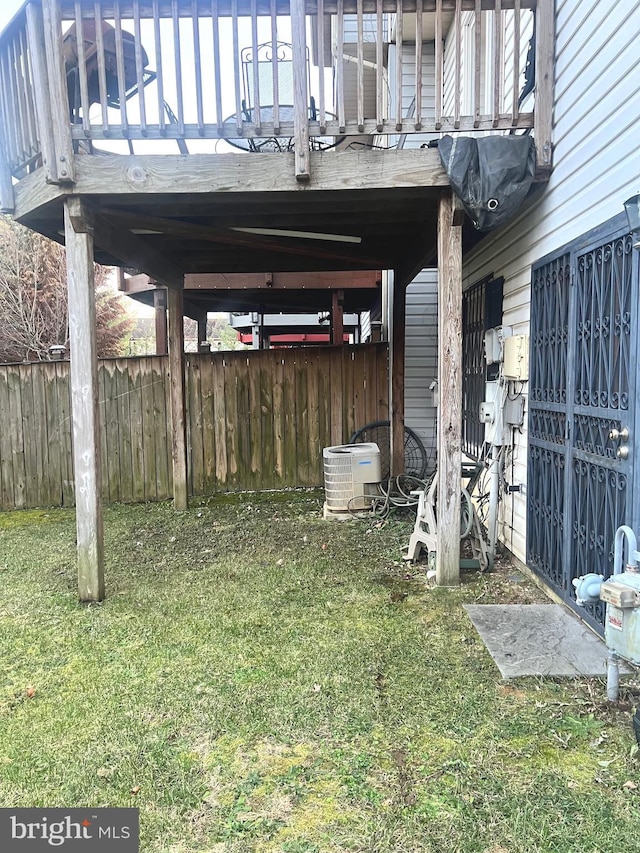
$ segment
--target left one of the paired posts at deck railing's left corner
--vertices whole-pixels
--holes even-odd
[[[55,142],[53,139],[53,121],[51,119],[51,98],[49,94],[49,76],[44,41],[42,9],[35,3],[27,6],[27,40],[31,56],[33,73],[33,94],[36,106],[37,136],[40,139],[40,153],[48,183],[57,183],[58,166],[56,162]],[[4,126],[8,124],[4,122]],[[5,139],[6,145],[6,139]],[[7,152],[8,155],[8,152]]]

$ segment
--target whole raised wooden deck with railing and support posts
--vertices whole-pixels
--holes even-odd
[[[399,472],[404,288],[437,265],[436,570],[458,582],[463,217],[427,145],[532,132],[548,176],[554,21],[553,0],[25,3],[0,35],[0,210],[67,247],[82,600],[104,595],[93,258],[168,287],[176,509],[185,276],[393,270]]]

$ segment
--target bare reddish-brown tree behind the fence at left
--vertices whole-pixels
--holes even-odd
[[[98,355],[121,355],[134,320],[96,265]],[[62,246],[0,218],[0,361],[46,361],[67,347],[67,266]]]

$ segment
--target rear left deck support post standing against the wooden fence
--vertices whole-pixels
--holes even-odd
[[[184,326],[182,290],[167,291],[169,308],[169,394],[171,398],[171,459],[173,505],[187,508],[187,433],[184,389]]]

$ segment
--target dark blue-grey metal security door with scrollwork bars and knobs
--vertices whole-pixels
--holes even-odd
[[[573,578],[608,575],[616,528],[640,520],[638,252],[626,231],[587,237],[533,268],[527,562],[569,604]],[[587,619],[601,629],[601,605]]]

